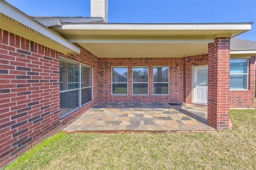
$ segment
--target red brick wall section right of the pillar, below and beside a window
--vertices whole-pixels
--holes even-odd
[[[254,109],[255,58],[256,56],[251,56],[249,60],[248,90],[230,90],[230,108]]]

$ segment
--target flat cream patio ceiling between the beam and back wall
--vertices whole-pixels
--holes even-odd
[[[208,43],[79,43],[98,57],[184,57],[208,53]]]

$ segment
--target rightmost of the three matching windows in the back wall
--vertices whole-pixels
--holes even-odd
[[[153,94],[168,95],[169,94],[169,67],[154,66],[153,67]]]

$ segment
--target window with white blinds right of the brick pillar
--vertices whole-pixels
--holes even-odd
[[[247,59],[230,59],[230,89],[248,89]]]

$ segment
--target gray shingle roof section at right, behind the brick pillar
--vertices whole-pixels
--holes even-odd
[[[239,38],[230,39],[230,51],[256,50],[256,42]]]

